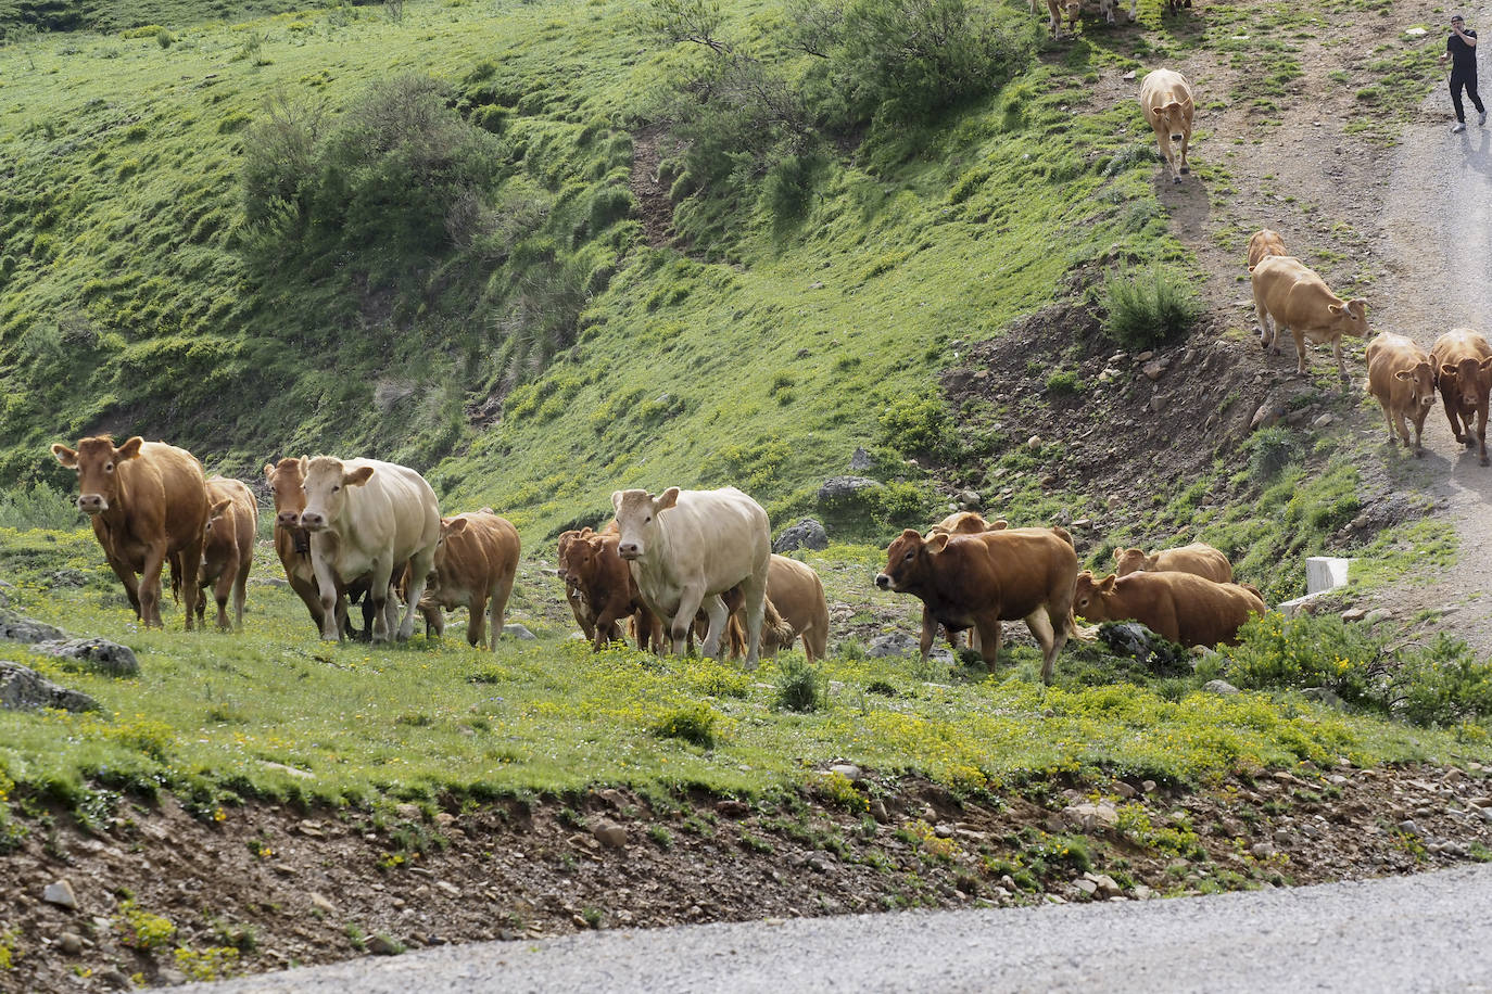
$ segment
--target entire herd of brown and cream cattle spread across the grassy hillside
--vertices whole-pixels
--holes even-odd
[[[1047,3],[1055,34],[1059,0]],[[1101,4],[1110,21],[1115,7],[1116,0]],[[1076,18],[1082,0],[1067,9]],[[1140,85],[1140,106],[1174,182],[1182,182],[1189,173],[1191,85],[1158,69]],[[1367,337],[1367,301],[1332,294],[1270,229],[1249,238],[1247,262],[1262,347],[1279,355],[1288,331],[1297,373],[1304,374],[1306,344],[1329,343],[1346,384],[1341,338]],[[1474,444],[1488,465],[1486,338],[1452,329],[1426,352],[1383,332],[1365,358],[1367,390],[1383,408],[1389,444],[1395,434],[1411,444],[1408,422],[1414,455],[1423,455],[1420,435],[1438,389],[1456,441]],[[91,519],[142,624],[163,624],[161,571],[169,566],[188,630],[204,621],[207,587],[218,627],[242,627],[258,525],[245,483],[207,478],[191,453],[140,437],[122,446],[109,435],[84,438],[76,449],[54,444],[52,455],[78,472],[78,508]],[[413,633],[416,612],[427,633],[440,635],[443,611],[467,608],[467,642],[495,645],[518,571],[512,523],[491,508],[442,517],[419,472],[376,459],[280,459],[264,466],[264,477],[275,499],[275,551],[321,638],[403,641]],[[567,531],[557,550],[565,599],[595,650],[622,639],[625,621],[645,651],[694,651],[698,638],[706,656],[745,656],[755,666],[801,638],[810,662],[825,656],[824,584],[807,565],[771,553],[767,513],[750,496],[736,487],[668,487],[659,495],[618,490],[612,504],[615,519],[606,528]],[[1267,610],[1259,590],[1235,583],[1228,557],[1210,545],[1149,554],[1123,548],[1115,559],[1115,572],[1098,578],[1079,569],[1062,528],[1010,528],[964,511],[927,534],[907,529],[895,538],[876,586],[922,601],[924,660],[940,629],[955,648],[968,630],[970,648],[994,669],[1001,624],[1024,620],[1041,647],[1044,683],[1062,645],[1079,633],[1077,615],[1137,620],[1192,647],[1231,642],[1250,615]],[[361,630],[348,615],[348,605],[360,602]]]

